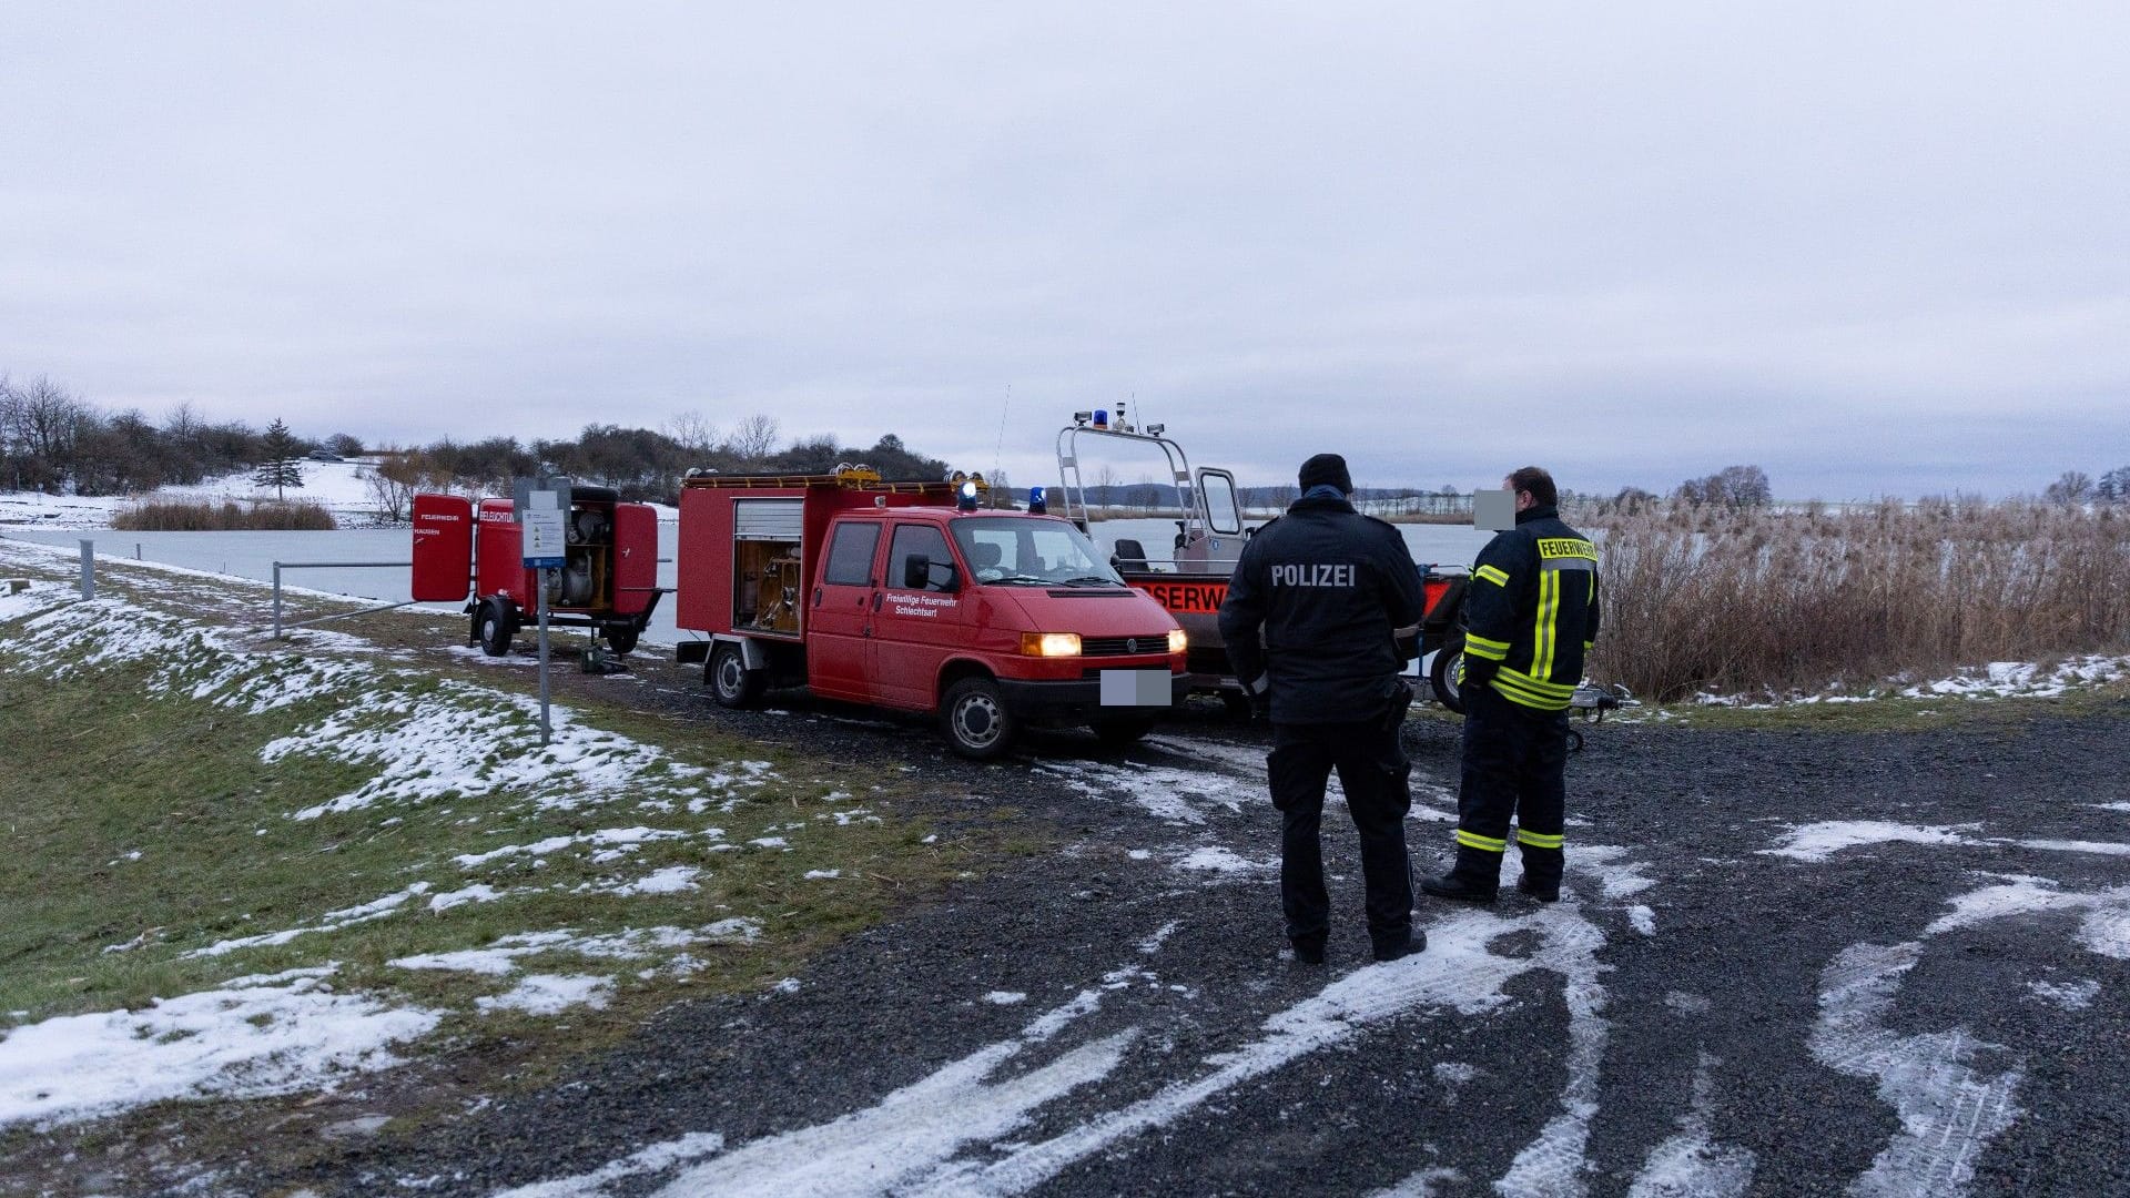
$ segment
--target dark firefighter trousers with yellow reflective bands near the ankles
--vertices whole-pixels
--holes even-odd
[[[1568,712],[1538,712],[1493,686],[1463,693],[1463,778],[1457,789],[1457,846],[1476,848],[1500,870],[1508,821],[1517,821],[1523,872],[1534,883],[1561,880],[1561,825],[1568,806]],[[1459,868],[1480,853],[1459,853]],[[1476,861],[1474,861],[1476,863]],[[1485,878],[1487,885],[1493,878]]]

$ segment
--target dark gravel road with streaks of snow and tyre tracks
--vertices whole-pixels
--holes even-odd
[[[1280,936],[1265,731],[1193,710],[1125,757],[969,765],[792,699],[671,710],[1056,848],[671,1008],[537,1094],[383,1134],[313,1194],[2126,1194],[2130,701],[1913,733],[1606,723],[1570,765],[1568,893],[1423,900],[1367,961],[1327,819],[1331,961]],[[1421,868],[1448,721],[1406,727]],[[1508,874],[1514,874],[1510,863]]]

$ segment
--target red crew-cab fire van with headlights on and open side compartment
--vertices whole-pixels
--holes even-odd
[[[1146,735],[1189,689],[1184,633],[1071,522],[978,507],[976,480],[694,475],[675,622],[728,708],[769,686],[937,712],[990,759],[1025,725]]]

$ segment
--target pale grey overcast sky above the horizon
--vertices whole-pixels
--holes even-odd
[[[1244,482],[2034,492],[2130,465],[2124,47],[2119,0],[0,0],[0,373],[1016,484],[1135,399]]]

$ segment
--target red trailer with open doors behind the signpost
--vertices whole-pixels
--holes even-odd
[[[620,503],[605,486],[571,486],[562,539],[547,622],[594,629],[618,654],[637,648],[660,595],[658,514],[648,503]],[[413,497],[413,599],[464,599],[484,652],[511,650],[518,629],[537,618],[539,586],[509,499]]]

